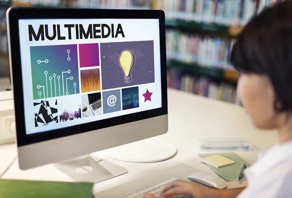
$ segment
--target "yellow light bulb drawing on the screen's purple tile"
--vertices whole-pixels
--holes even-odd
[[[132,82],[132,70],[135,65],[135,55],[130,50],[124,50],[119,56],[119,65],[124,72],[125,83]]]

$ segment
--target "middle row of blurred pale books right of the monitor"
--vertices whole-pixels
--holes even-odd
[[[235,39],[166,31],[167,58],[205,67],[233,70],[228,59],[234,43]]]

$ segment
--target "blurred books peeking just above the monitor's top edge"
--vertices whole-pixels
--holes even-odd
[[[150,0],[74,0],[76,8],[150,9]]]

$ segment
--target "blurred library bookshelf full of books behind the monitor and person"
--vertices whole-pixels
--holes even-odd
[[[239,104],[239,74],[228,64],[250,18],[279,0],[0,0],[0,77],[9,74],[9,6],[160,9],[165,13],[168,86]]]

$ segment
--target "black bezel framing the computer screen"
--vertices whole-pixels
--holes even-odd
[[[53,14],[54,13],[54,14]],[[166,74],[166,46],[165,46],[165,16],[162,10],[110,10],[110,9],[63,9],[63,8],[23,8],[14,7],[7,14],[7,28],[9,37],[9,58],[11,79],[14,92],[15,120],[17,130],[17,144],[19,146],[36,144],[57,138],[67,137],[75,134],[85,133],[92,130],[107,128],[144,120],[167,114],[167,74]],[[160,32],[160,63],[161,63],[161,91],[162,108],[141,111],[133,114],[99,120],[76,126],[60,129],[26,134],[24,121],[24,98],[22,71],[19,46],[18,20],[23,18],[157,18],[159,19]],[[12,41],[12,42],[11,42]],[[114,124],[113,124],[114,123]]]

